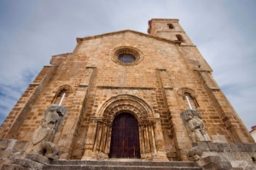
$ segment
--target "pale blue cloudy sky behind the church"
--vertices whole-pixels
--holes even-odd
[[[248,130],[256,125],[255,0],[0,0],[0,124],[55,54],[76,37],[179,19]]]

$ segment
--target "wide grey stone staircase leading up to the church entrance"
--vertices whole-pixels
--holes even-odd
[[[52,161],[44,165],[44,170],[202,170],[192,161],[139,161],[139,160],[108,160],[108,161]]]

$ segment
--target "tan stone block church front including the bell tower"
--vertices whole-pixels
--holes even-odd
[[[212,144],[254,143],[178,20],[149,20],[148,34],[125,30],[77,42],[73,53],[52,56],[29,85],[1,139],[30,141],[44,111],[61,100],[67,114],[52,141],[61,159],[108,160],[114,118],[125,112],[138,122],[140,159],[188,161],[195,143],[180,113],[189,100]],[[119,54],[135,60],[122,62]]]

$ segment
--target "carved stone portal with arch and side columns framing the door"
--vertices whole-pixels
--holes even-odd
[[[91,117],[82,159],[108,159],[113,119],[124,112],[137,118],[141,159],[167,160],[159,115],[143,99],[127,94],[106,100]]]

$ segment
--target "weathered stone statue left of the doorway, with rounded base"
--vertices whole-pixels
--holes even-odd
[[[60,157],[60,151],[53,144],[55,134],[60,126],[60,116],[63,118],[61,106],[58,105],[50,105],[44,111],[44,118],[32,135],[32,149],[30,153],[37,153],[49,159],[58,159]]]

